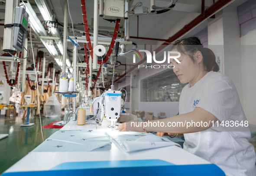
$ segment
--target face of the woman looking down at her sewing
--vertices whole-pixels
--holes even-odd
[[[178,61],[181,63],[177,63],[172,58],[170,60],[170,64],[175,66],[173,71],[177,75],[178,79],[181,83],[193,82],[201,70],[199,65],[194,63],[188,55],[182,53],[180,58],[178,58]]]

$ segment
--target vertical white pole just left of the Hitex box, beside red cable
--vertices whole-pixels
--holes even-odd
[[[94,0],[93,48],[98,45],[98,0]],[[93,69],[97,70],[97,55],[93,53]],[[91,70],[91,69],[90,69]],[[90,74],[91,75],[91,74]]]

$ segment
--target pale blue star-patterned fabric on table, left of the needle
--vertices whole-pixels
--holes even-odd
[[[33,152],[91,151],[111,144],[109,135],[96,130],[56,131]]]

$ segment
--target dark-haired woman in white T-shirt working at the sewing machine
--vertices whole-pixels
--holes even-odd
[[[150,121],[162,126],[144,122],[133,127],[127,122],[117,129],[161,131],[159,136],[184,133],[184,149],[216,164],[227,176],[256,176],[248,122],[233,82],[217,72],[214,53],[196,37],[177,41],[172,51],[181,53],[180,63],[171,61],[173,71],[181,83],[188,83],[181,91],[179,115]]]

